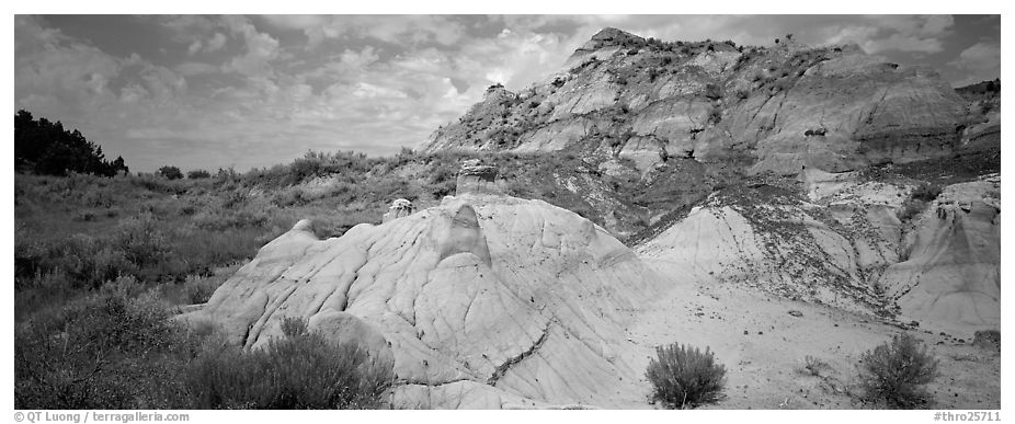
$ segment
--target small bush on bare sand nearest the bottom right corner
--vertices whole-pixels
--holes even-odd
[[[892,337],[862,356],[860,386],[869,401],[912,409],[928,401],[923,386],[937,376],[937,360],[911,334]]]

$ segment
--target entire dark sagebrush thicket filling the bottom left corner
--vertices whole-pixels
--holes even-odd
[[[118,278],[15,325],[18,409],[366,409],[390,368],[293,320],[263,348],[170,319],[155,290]]]

